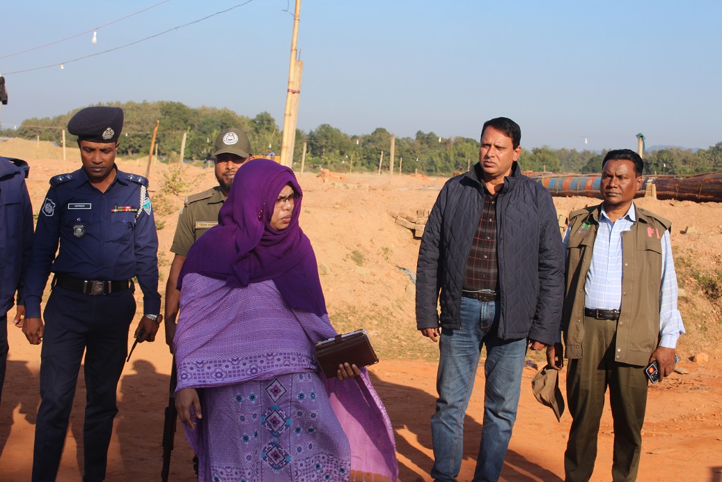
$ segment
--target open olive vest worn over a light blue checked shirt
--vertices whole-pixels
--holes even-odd
[[[622,306],[617,322],[614,358],[644,366],[659,341],[659,290],[664,231],[671,222],[635,206],[637,222],[622,233]],[[584,356],[584,284],[591,265],[601,205],[569,215],[562,330],[566,358]]]

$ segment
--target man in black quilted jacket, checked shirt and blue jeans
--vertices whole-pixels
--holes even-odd
[[[419,248],[417,329],[440,348],[431,418],[435,481],[456,481],[461,469],[464,415],[482,346],[484,426],[474,481],[497,481],[526,350],[553,345],[560,327],[564,257],[557,211],[549,191],[521,173],[520,140],[511,119],[484,123],[479,163],[443,186]]]

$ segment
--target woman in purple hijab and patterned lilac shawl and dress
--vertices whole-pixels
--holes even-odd
[[[366,369],[345,364],[326,379],[313,356],[336,331],[298,225],[302,199],[290,168],[246,163],[219,224],[183,264],[175,405],[199,481],[398,475],[391,422]]]

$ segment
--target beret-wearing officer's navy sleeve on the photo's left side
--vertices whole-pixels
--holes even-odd
[[[40,299],[53,267],[60,239],[61,202],[58,191],[51,187],[38,215],[38,226],[32,243],[32,257],[25,280],[25,317],[40,318]]]

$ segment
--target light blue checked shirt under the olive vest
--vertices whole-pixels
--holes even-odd
[[[592,251],[591,266],[584,283],[584,307],[598,309],[619,309],[622,306],[622,232],[630,231],[637,221],[635,205],[617,222],[612,223],[606,215],[604,205],[599,215]],[[569,243],[569,228],[564,234],[564,251]],[[677,309],[677,272],[669,242],[669,231],[664,231],[662,244],[662,284],[659,289],[659,345],[676,348],[679,335],[684,333],[682,315]]]

